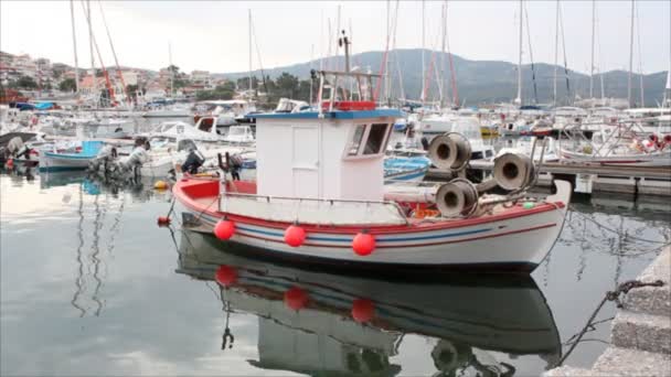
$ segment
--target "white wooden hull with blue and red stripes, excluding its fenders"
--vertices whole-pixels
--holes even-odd
[[[339,231],[338,227],[326,227],[327,231],[310,231],[305,244],[295,248],[284,240],[286,226],[264,224],[257,219],[236,219],[236,230],[230,241],[265,249],[269,256],[313,261],[531,271],[552,249],[563,227],[571,185],[563,181],[556,183],[558,194],[548,197],[547,202],[563,204],[553,209],[529,209],[529,213],[520,213],[512,218],[475,225],[468,225],[467,220],[455,220],[461,223],[433,230],[413,226],[396,227],[393,233],[375,235],[376,249],[365,257],[353,252],[352,230]],[[184,206],[185,213],[198,218],[201,230],[211,233],[224,215],[217,212],[219,204],[212,203],[206,208],[192,205],[182,200],[178,186],[175,185],[175,196]],[[328,224],[327,219],[324,224]]]

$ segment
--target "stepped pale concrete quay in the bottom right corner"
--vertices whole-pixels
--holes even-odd
[[[661,280],[664,284],[627,293],[613,321],[611,344],[592,369],[563,366],[544,376],[671,376],[671,248],[667,247],[638,280]]]

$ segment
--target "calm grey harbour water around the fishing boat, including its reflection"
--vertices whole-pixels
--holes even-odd
[[[539,375],[671,224],[668,201],[578,198],[531,277],[382,279],[159,228],[171,196],[151,182],[3,173],[0,190],[3,376]],[[220,265],[232,266],[230,288],[213,281]],[[614,313],[607,304],[599,319]],[[589,366],[608,333],[597,325],[567,364]]]

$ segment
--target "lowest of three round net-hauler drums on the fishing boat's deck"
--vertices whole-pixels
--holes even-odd
[[[478,188],[465,179],[438,187],[436,206],[444,217],[470,216],[478,208]]]

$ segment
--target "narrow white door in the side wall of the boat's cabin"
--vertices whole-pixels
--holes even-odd
[[[296,197],[319,197],[319,129],[294,126],[292,187]]]

